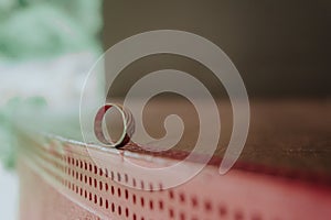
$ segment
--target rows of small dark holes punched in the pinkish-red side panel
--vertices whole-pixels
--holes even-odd
[[[52,154],[53,154],[53,152],[52,152]],[[74,157],[71,157],[71,156],[66,157],[66,156],[57,155],[56,157],[60,157],[61,161],[67,163],[68,165],[73,165],[74,167],[77,167],[77,168],[81,167],[82,169],[85,168],[85,170],[87,170],[87,172],[92,172],[92,173],[94,172],[94,174],[96,174],[96,175],[99,175],[99,176],[105,175],[105,177],[108,177],[108,170],[107,169],[105,169],[105,172],[103,172],[102,168],[98,168],[96,165],[92,165],[90,163],[83,162],[81,160],[75,160]],[[52,160],[47,158],[47,161],[52,161]],[[107,183],[103,184],[103,182],[99,182],[99,184],[97,184],[98,183],[97,179],[92,178],[90,176],[87,177],[87,175],[83,175],[82,173],[78,173],[77,170],[74,170],[74,167],[71,168],[71,167],[67,167],[67,166],[62,166],[62,165],[57,164],[54,161],[52,161],[52,162],[55,163],[56,165],[58,165],[60,168],[63,167],[64,172],[66,169],[67,175],[73,176],[77,180],[81,179],[82,183],[83,183],[83,180],[85,180],[85,184],[87,184],[87,179],[88,179],[88,184],[90,186],[93,186],[93,182],[94,182],[94,187],[95,188],[99,188],[100,190],[105,189],[106,191],[108,191],[109,188],[110,188],[111,195],[116,195],[116,188],[114,186],[108,187],[108,184]],[[84,178],[83,178],[83,176],[84,176]],[[110,177],[111,177],[111,179],[115,178],[115,174],[114,174],[113,170],[110,172]],[[127,174],[124,175],[124,179],[125,179],[126,183],[128,183],[129,177],[128,177]],[[120,173],[117,173],[117,180],[118,182],[121,180]],[[83,188],[81,188],[78,186],[75,186],[74,184],[72,184],[68,180],[67,182],[63,182],[63,184],[65,184],[68,188],[71,188],[77,195],[81,195],[82,197],[85,197],[85,198],[89,199],[90,201],[93,200],[92,194],[87,193],[85,189],[83,191]],[[136,186],[136,179],[135,178],[132,178],[132,185]],[[143,186],[145,186],[143,182],[141,180],[141,188],[143,188]],[[152,185],[150,185],[150,189],[152,190]],[[121,197],[121,189],[120,188],[117,188],[117,195],[118,195],[118,197]],[[129,199],[129,191],[127,189],[125,189],[124,195],[125,195],[126,199]],[[137,205],[138,204],[138,201],[137,201],[138,199],[137,199],[136,195],[132,194],[131,197],[132,197],[132,202],[135,205]],[[174,194],[173,190],[169,190],[169,197],[170,197],[170,199],[175,199],[175,194]],[[178,194],[178,199],[182,204],[186,202],[185,194],[184,193]],[[191,206],[195,209],[199,206],[197,198],[196,197],[192,197],[190,200],[191,200],[191,202],[190,202]],[[116,211],[115,205],[113,202],[109,206],[109,202],[108,202],[107,199],[105,201],[104,201],[104,199],[102,197],[99,197],[99,199],[98,199],[97,195],[94,195],[94,204],[99,205],[100,207],[104,206],[106,209],[110,209],[111,208],[110,210],[113,212]],[[141,205],[141,207],[145,207],[145,205],[146,205],[143,197],[140,197],[140,205]],[[148,206],[149,206],[149,208],[151,210],[154,209],[154,204],[153,204],[152,200],[149,200],[149,205]],[[163,205],[162,200],[159,200],[158,206],[159,206],[160,210],[164,209],[164,205]],[[205,201],[205,202],[202,204],[202,206],[204,207],[205,215],[209,216],[207,213],[210,213],[212,211],[212,209],[213,209],[212,202]],[[174,216],[175,216],[174,209],[173,208],[169,208],[168,211],[169,211],[169,217],[170,218],[174,218]],[[122,213],[120,206],[118,206],[117,213],[119,213],[119,216]],[[126,215],[126,217],[128,217],[129,215],[127,215],[127,213],[129,213],[129,209],[126,208],[126,211],[124,211],[124,213]],[[224,206],[218,207],[218,215],[220,215],[220,217],[226,217],[228,215],[228,211],[227,211],[226,207],[224,207]],[[181,220],[185,220],[186,219],[184,212],[180,212],[178,217]],[[132,215],[132,219],[137,219],[137,216],[135,213]],[[143,217],[141,217],[141,219],[143,219]],[[195,220],[195,219],[197,219],[197,218],[192,217],[192,220]],[[235,220],[243,220],[244,219],[243,212],[236,211],[234,213],[234,219]],[[261,220],[261,218],[259,216],[253,216],[250,219],[252,220]]]

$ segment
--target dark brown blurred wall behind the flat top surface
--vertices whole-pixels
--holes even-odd
[[[250,98],[329,98],[331,2],[146,0],[104,2],[104,48],[151,30],[181,30],[217,44],[239,70]],[[124,96],[153,70],[190,73],[223,96],[212,73],[189,58],[154,55],[134,62],[111,96]],[[215,82],[216,81],[216,82]]]

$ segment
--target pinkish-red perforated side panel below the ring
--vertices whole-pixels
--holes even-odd
[[[117,150],[92,150],[114,167],[105,168],[97,166],[79,143],[46,136],[25,136],[22,143],[20,216],[24,220],[290,220],[331,217],[329,187],[238,169],[221,176],[216,166],[209,165],[189,183],[166,190],[157,178],[124,172],[121,167],[126,161]],[[158,163],[158,160],[139,153],[131,156],[141,163]]]

